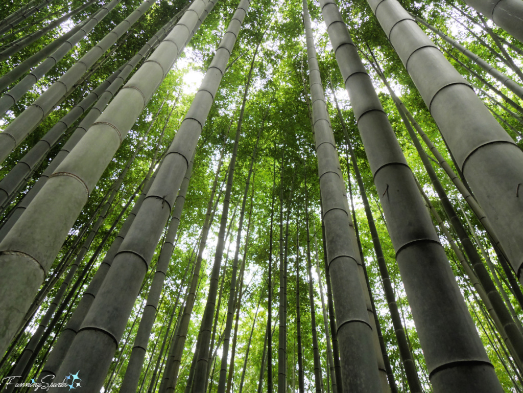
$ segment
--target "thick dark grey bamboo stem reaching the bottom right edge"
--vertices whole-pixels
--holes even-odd
[[[437,63],[438,65],[445,64],[446,60],[439,51],[436,53],[433,46],[426,47],[430,41],[396,0],[383,0],[383,2],[371,0],[370,5],[380,23],[384,24],[382,16],[386,15],[394,20],[394,28],[408,26],[410,29],[408,31],[414,29],[418,32],[413,37],[415,47],[419,48],[423,42],[423,49],[415,51],[413,57],[417,58],[421,52],[423,56],[420,61],[424,62],[425,50],[428,48],[436,58],[438,55],[440,56],[441,61]],[[383,14],[385,11],[386,13]],[[396,260],[400,267],[434,391],[448,392],[452,389],[461,389],[463,392],[473,390],[477,392],[477,386],[481,386],[480,390],[485,392],[502,391],[494,367],[488,360],[456,280],[453,279],[445,250],[439,242],[429,212],[419,196],[412,171],[406,163],[394,130],[358,56],[357,48],[345,26],[339,28],[343,19],[339,15],[337,7],[328,4],[323,7],[323,14],[338,66],[354,109],[374,184],[378,190],[385,217],[388,219]],[[406,17],[404,17],[405,15]],[[332,23],[334,21],[338,23]],[[388,27],[385,29],[388,30]],[[393,30],[393,32],[395,31]],[[398,28],[398,31],[403,30]],[[343,35],[340,32],[343,32]],[[388,36],[390,36],[389,32],[386,31]],[[401,33],[399,36],[393,36],[391,41],[396,43],[396,48],[397,37],[405,42]],[[343,49],[340,50],[342,47]],[[340,51],[338,52],[338,50]],[[408,50],[412,50],[411,46],[408,46]],[[400,50],[399,52],[400,58],[402,58],[404,52]],[[429,66],[428,63],[426,67]],[[430,66],[433,65],[430,63]],[[418,70],[425,75],[426,67],[419,67]],[[449,68],[452,68],[450,64]],[[416,68],[414,69],[416,70]],[[439,68],[437,70],[439,71]],[[452,70],[457,74],[453,68]],[[413,73],[411,69],[409,71],[411,74]],[[438,80],[438,75],[434,75],[434,72],[431,76],[434,78],[424,76],[425,81]],[[413,76],[413,79],[418,83],[420,93],[424,97],[427,90],[419,86],[420,78],[416,75]],[[453,89],[452,86],[456,85],[450,86]],[[470,88],[469,90],[472,92]],[[436,116],[433,110],[433,116],[441,121],[448,121],[448,113],[456,110],[456,108],[448,107],[448,100],[446,102],[440,100],[439,94],[447,91],[448,86],[437,92],[430,91],[433,95],[438,95],[439,106],[447,109],[445,120]],[[454,92],[454,94],[458,93]],[[442,94],[441,97],[443,96],[448,98],[448,94]],[[479,99],[477,102],[481,103]],[[435,105],[435,103],[432,102],[431,105]],[[458,104],[454,102],[453,105]],[[481,105],[482,110],[488,113],[484,105],[482,103]],[[434,108],[439,107],[435,105]],[[501,127],[490,114],[488,116],[498,127]],[[452,121],[461,121],[461,119],[458,120],[452,116]],[[454,125],[451,127],[455,128]],[[506,135],[504,130],[503,132]],[[506,139],[509,139],[508,136]],[[376,143],[377,141],[379,143]],[[433,296],[434,293],[439,296]],[[446,305],[445,310],[441,309],[441,304]],[[431,311],[426,312],[426,310]],[[434,340],[436,332],[438,334],[437,343]],[[481,381],[479,385],[477,385],[478,381]]]

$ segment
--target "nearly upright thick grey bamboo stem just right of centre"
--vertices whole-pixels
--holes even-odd
[[[327,26],[331,26],[331,23],[343,26],[342,29],[348,36],[336,4],[327,4],[322,0],[320,6]],[[303,9],[326,252],[336,304],[337,336],[343,375],[340,379],[344,391],[378,392],[382,388],[365,294],[359,280],[356,235],[351,225],[343,175],[325,104],[306,1],[303,2]],[[334,42],[333,47],[337,49],[338,44]]]

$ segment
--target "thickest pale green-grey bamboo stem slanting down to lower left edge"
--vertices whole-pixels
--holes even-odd
[[[195,0],[191,4],[178,24],[111,101],[104,113],[98,118],[97,123],[89,128],[85,136],[67,156],[67,159],[56,168],[49,181],[33,199],[29,209],[26,209],[0,243],[0,270],[3,272],[0,277],[5,277],[4,279],[9,277],[9,284],[6,282],[0,285],[0,288],[2,288],[0,289],[0,296],[4,299],[3,306],[0,307],[0,319],[9,320],[8,325],[0,332],[0,352],[5,351],[9,341],[13,338],[25,310],[27,310],[31,299],[43,282],[54,256],[58,253],[76,216],[85,205],[89,193],[94,189],[113,154],[119,148],[122,139],[127,136],[133,123],[175,62],[178,50],[173,50],[173,46],[182,47],[185,44],[191,36],[187,31],[188,27],[194,29],[197,26],[198,17],[203,14],[206,5],[207,2],[204,0]],[[218,60],[215,60],[214,63],[217,62]],[[214,66],[211,70],[213,70],[213,73],[221,72],[220,68]],[[215,92],[218,88],[216,82],[219,82],[219,80],[220,78],[216,79],[214,75],[208,76],[204,79],[204,87],[214,82],[209,86],[209,89]],[[47,92],[49,92],[49,89]],[[208,89],[200,89],[195,102],[199,103],[201,100],[205,100],[206,107],[210,107],[210,96],[212,97],[212,94],[209,93]],[[177,181],[164,183],[170,186],[171,191],[166,193],[164,190],[160,190],[162,195],[159,196],[159,199],[156,197],[149,198],[149,203],[152,202],[151,199],[155,199],[160,201],[160,206],[162,206],[164,196],[169,194],[169,199],[165,201],[169,205],[172,204],[197,141],[197,138],[196,140],[193,139],[192,143],[187,146],[180,139],[183,139],[184,135],[199,136],[201,127],[205,122],[204,119],[207,117],[207,110],[194,113],[195,109],[193,109],[182,123],[172,148],[164,159],[164,163],[168,162],[168,164],[165,165],[165,169],[161,169],[159,172],[163,177],[162,172],[165,172],[168,167],[177,167]],[[191,128],[189,123],[196,127],[195,131],[188,130],[188,127]],[[93,146],[100,148],[93,149]],[[177,150],[183,155],[173,154]],[[185,156],[188,156],[188,158],[184,158]],[[161,167],[163,168],[164,165]],[[152,187],[150,192],[155,192],[154,188],[156,187]],[[168,209],[163,210],[163,222],[165,222],[169,212]],[[152,215],[149,218],[151,219]],[[28,231],[27,228],[31,228],[31,231]],[[161,230],[158,232],[161,232]],[[24,233],[24,235],[19,233]],[[27,233],[31,233],[31,235],[27,235]],[[50,234],[52,234],[51,238]],[[151,233],[151,235],[153,234]],[[156,235],[159,238],[159,234]],[[13,253],[15,250],[16,252]],[[143,264],[143,261],[141,263]],[[18,273],[12,271],[14,266],[18,266],[16,268]],[[20,269],[21,266],[27,268]],[[144,274],[143,270],[140,272],[140,274]],[[20,291],[8,290],[9,287],[12,288],[13,286],[23,287],[23,289]],[[20,310],[19,312],[12,312],[12,305],[14,304],[17,304],[16,308]],[[91,332],[93,331],[91,330]],[[110,346],[113,345],[114,342]],[[109,347],[105,347],[105,349],[108,350]],[[82,351],[76,353],[79,354]],[[84,354],[87,355],[87,353]],[[92,360],[95,359],[92,358]],[[98,384],[96,378],[93,378],[92,381],[93,384]]]

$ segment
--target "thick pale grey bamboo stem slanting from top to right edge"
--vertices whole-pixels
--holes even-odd
[[[519,257],[523,253],[523,241],[519,238],[519,233],[523,235],[523,199],[518,197],[517,189],[518,179],[523,176],[523,152],[400,3],[370,0],[369,4],[407,65],[457,166],[486,216],[491,218],[507,259],[519,276],[523,263]],[[412,45],[403,46],[406,35],[413,40]]]

